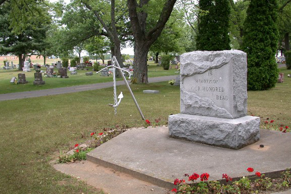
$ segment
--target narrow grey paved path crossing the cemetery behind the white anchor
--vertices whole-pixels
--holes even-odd
[[[153,83],[153,82],[159,82],[159,81],[168,81],[170,79],[175,79],[176,76],[177,75],[170,75],[170,76],[163,76],[163,77],[150,77],[148,78],[148,82]],[[130,82],[130,80],[128,80],[128,82]],[[125,83],[123,80],[116,81],[116,86],[120,86],[124,84]],[[65,94],[65,93],[72,93],[72,92],[81,92],[81,91],[86,91],[86,90],[96,90],[96,89],[101,89],[101,88],[110,88],[112,86],[113,86],[112,82],[105,82],[105,83],[94,83],[94,84],[81,85],[81,86],[70,86],[70,87],[64,87],[64,88],[51,88],[51,89],[45,89],[45,90],[7,93],[7,94],[0,94],[0,101],[57,95],[57,94]]]

